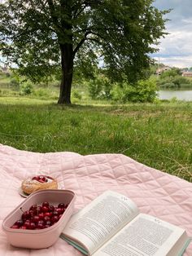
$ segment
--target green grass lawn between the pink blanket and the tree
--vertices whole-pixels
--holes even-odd
[[[59,106],[0,98],[0,143],[33,152],[123,153],[192,182],[192,103]]]

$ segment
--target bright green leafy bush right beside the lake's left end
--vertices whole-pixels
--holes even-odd
[[[134,85],[123,83],[112,90],[112,99],[126,102],[154,102],[156,98],[156,82],[153,79],[140,80]]]

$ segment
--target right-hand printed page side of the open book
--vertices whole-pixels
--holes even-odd
[[[159,218],[138,214],[116,236],[112,237],[93,256],[165,256],[172,246],[185,236],[185,230],[166,223]],[[182,239],[180,248],[186,244],[187,236]]]

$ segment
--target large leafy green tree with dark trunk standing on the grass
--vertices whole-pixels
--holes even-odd
[[[20,73],[40,81],[61,68],[59,104],[71,103],[74,68],[103,64],[111,79],[145,76],[153,45],[164,37],[154,0],[5,0],[0,5],[1,51]]]

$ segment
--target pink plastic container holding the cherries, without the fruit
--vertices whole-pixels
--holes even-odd
[[[71,218],[74,206],[75,194],[69,190],[62,189],[46,189],[33,192],[28,196],[15,210],[2,222],[2,229],[7,233],[7,239],[16,247],[42,249],[50,247],[59,239],[60,233]],[[46,227],[39,230],[23,230],[11,228],[16,220],[21,218],[21,210],[28,210],[32,205],[41,205],[42,202],[48,201],[51,205],[58,205],[59,203],[68,204],[68,208],[63,213],[62,217],[53,226]]]

